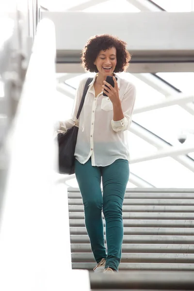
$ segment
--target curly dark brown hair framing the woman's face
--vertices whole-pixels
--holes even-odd
[[[117,59],[114,73],[126,71],[131,58],[126,46],[126,42],[111,34],[91,36],[82,50],[81,65],[86,71],[97,73],[97,66],[94,65],[94,62],[100,50],[106,50],[114,47],[116,49]]]

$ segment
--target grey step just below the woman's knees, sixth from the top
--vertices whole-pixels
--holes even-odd
[[[105,226],[105,220],[103,219]],[[124,219],[124,227],[194,227],[194,220]],[[85,227],[84,219],[70,219],[69,226]]]

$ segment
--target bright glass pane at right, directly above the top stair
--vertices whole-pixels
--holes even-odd
[[[130,164],[130,170],[157,188],[194,188],[194,173],[169,157]]]

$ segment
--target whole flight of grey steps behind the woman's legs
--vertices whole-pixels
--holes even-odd
[[[71,189],[68,192],[68,204],[72,268],[92,271],[96,262],[85,228],[79,189]],[[107,247],[103,211],[102,219],[105,246]],[[174,284],[180,280],[178,274],[194,271],[194,189],[186,189],[186,191],[183,189],[128,189],[123,204],[123,224],[124,237],[119,273],[110,276],[111,283],[109,282],[110,284],[107,283],[107,285],[106,283],[103,285],[99,278],[97,285],[93,286],[91,281],[92,290],[125,289],[132,291],[135,289],[138,291],[142,289],[148,291],[151,289],[154,291],[162,290],[162,288],[165,291],[168,289],[194,290],[189,289],[189,285],[187,289],[186,285]],[[126,271],[128,271],[127,274]],[[151,281],[153,283],[153,277],[150,279],[150,286],[149,284],[142,284],[142,286],[141,284],[134,286],[130,284],[131,279],[134,279],[133,277],[129,279],[131,272],[136,272],[134,273],[136,275],[151,272],[147,274],[153,276],[152,273],[157,271],[159,273],[155,277],[155,285],[150,283]],[[177,281],[174,280],[173,284],[167,285],[164,280],[163,285],[159,284],[160,276],[165,271],[168,271],[166,278],[170,272],[177,272]],[[122,284],[121,273],[124,276],[123,280],[127,280],[127,285]],[[118,274],[120,274],[118,285],[112,284],[112,278]],[[105,278],[105,282],[107,282],[108,276],[104,276],[102,280]],[[183,277],[182,279],[184,280]],[[144,276],[144,282],[146,280],[147,277]],[[139,283],[138,280],[137,282]],[[193,286],[194,284],[192,288]]]

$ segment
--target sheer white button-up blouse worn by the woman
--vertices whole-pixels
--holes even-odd
[[[93,166],[107,166],[117,159],[129,161],[127,129],[131,124],[131,117],[135,102],[135,87],[129,81],[121,79],[118,75],[119,97],[121,99],[124,118],[113,121],[113,104],[101,92],[95,97],[94,82],[89,84],[83,108],[78,120],[78,139],[75,149],[75,158],[86,163],[90,157]],[[66,132],[76,119],[84,85],[83,79],[76,91],[75,106],[72,119],[60,122],[57,132]]]

